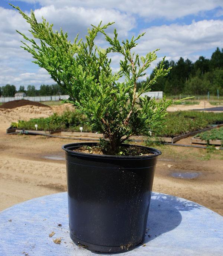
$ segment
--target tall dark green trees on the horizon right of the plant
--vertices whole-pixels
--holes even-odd
[[[182,57],[177,61],[164,62],[165,68],[172,67],[168,76],[161,77],[152,85],[152,91],[163,91],[166,95],[223,95],[223,49],[217,47],[210,59],[200,56],[194,63]],[[160,63],[158,63],[159,67]],[[150,78],[154,77],[152,71]],[[138,83],[138,87],[143,83]]]

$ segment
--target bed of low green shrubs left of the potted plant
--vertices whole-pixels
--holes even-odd
[[[37,124],[39,131],[55,131],[69,127],[73,128],[84,121],[83,116],[77,112],[64,111],[62,115],[54,113],[47,118],[32,118],[29,121],[19,120],[17,123],[13,122],[11,126],[18,129],[35,130],[35,124]]]

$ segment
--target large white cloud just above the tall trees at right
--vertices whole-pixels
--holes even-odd
[[[202,20],[190,25],[153,26],[145,30],[137,50],[141,54],[160,48],[159,54],[190,56],[197,51],[222,47],[223,20]]]

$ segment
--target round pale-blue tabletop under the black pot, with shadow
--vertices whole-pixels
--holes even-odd
[[[194,202],[152,193],[147,227],[145,244],[115,255],[223,255],[223,217]],[[55,234],[49,237],[52,231]],[[56,238],[61,244],[54,243]],[[0,256],[99,254],[70,239],[67,193],[35,198],[0,212]]]

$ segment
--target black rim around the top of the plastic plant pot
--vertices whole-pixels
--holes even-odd
[[[70,143],[70,144],[65,144],[62,145],[62,149],[65,150],[68,154],[71,154],[72,156],[84,156],[84,157],[91,157],[91,158],[109,158],[109,159],[151,159],[157,156],[160,156],[162,154],[162,152],[156,148],[150,148],[150,147],[146,147],[146,146],[141,146],[141,145],[134,145],[134,144],[122,144],[123,146],[127,146],[129,147],[130,145],[134,145],[136,147],[142,147],[142,148],[147,148],[149,149],[152,153],[154,153],[153,155],[149,155],[149,156],[114,156],[114,155],[99,155],[99,154],[90,154],[90,153],[82,153],[82,152],[77,152],[77,151],[73,151],[71,150],[76,148],[76,147],[80,147],[83,145],[97,145],[97,142],[82,142],[82,143]]]

